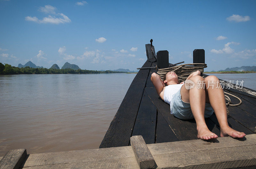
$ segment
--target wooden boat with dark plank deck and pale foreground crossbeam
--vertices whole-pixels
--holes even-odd
[[[146,45],[148,60],[142,67],[156,67],[154,46]],[[194,63],[204,55],[194,54]],[[156,70],[141,69],[133,79],[99,149],[27,154],[26,149],[8,151],[0,168],[255,168],[256,91],[231,88],[242,104],[228,107],[228,124],[246,137],[220,137],[215,114],[205,119],[219,138],[197,139],[195,120],[170,114],[170,105],[157,95],[150,77]],[[207,74],[203,74],[205,77]],[[225,83],[227,85],[227,82]],[[232,103],[236,99],[230,96]]]

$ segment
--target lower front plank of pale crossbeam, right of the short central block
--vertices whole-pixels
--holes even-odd
[[[256,165],[256,145],[153,155],[159,168],[233,168]]]

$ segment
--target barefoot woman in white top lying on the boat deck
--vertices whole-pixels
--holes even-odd
[[[214,111],[220,124],[220,136],[243,138],[245,134],[228,126],[227,108],[223,89],[216,76],[203,78],[196,71],[188,76],[185,83],[179,83],[175,72],[165,74],[163,81],[156,73],[151,75],[157,94],[170,104],[171,114],[177,118],[188,120],[195,118],[197,138],[215,139],[204,118],[210,117]],[[185,85],[184,85],[185,84]]]

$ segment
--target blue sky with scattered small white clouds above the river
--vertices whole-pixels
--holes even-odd
[[[256,65],[256,1],[0,0],[0,62],[136,70],[145,44],[205,71]]]

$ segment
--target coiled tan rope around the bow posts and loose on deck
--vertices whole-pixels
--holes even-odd
[[[156,65],[156,70],[157,70],[157,74],[160,75],[161,80],[163,81],[164,75],[170,71],[175,72],[178,77],[179,77],[179,81],[183,82],[185,81],[188,76],[193,73],[196,72],[197,70],[199,70],[200,72],[204,72],[204,68],[206,68],[207,65],[204,63],[188,63],[188,64],[182,64],[179,66],[173,66],[173,67],[168,67],[168,68],[164,68],[164,69],[158,69],[157,65]],[[204,76],[203,76],[204,78]],[[231,103],[231,99],[225,95],[225,100],[227,101],[226,105],[227,106],[238,106],[240,104],[242,104],[242,100],[232,94],[229,94],[227,92],[224,92],[227,95],[231,95],[233,97],[236,97],[240,102],[238,104],[230,104]]]

